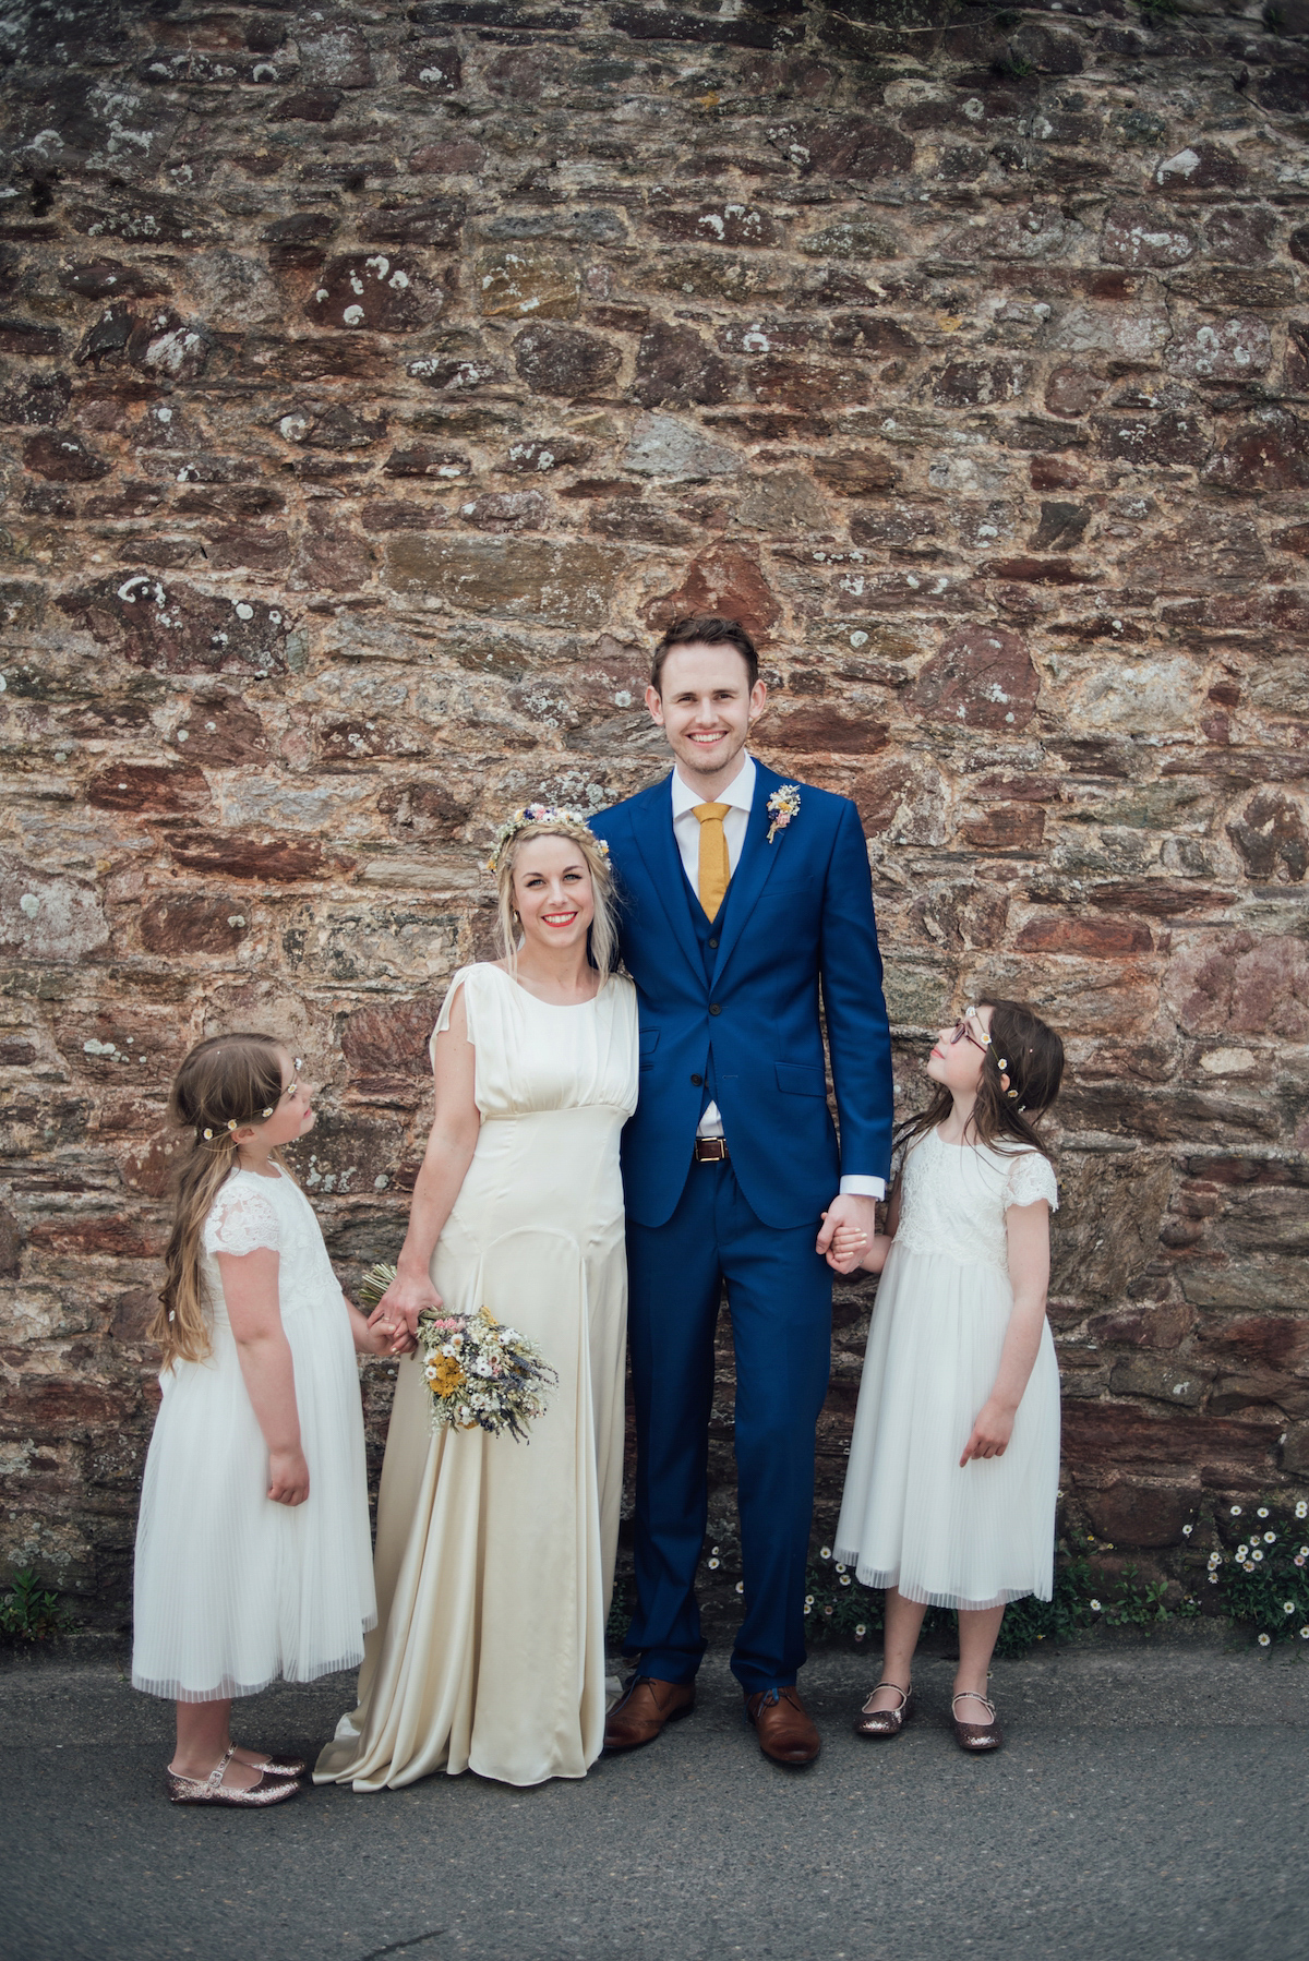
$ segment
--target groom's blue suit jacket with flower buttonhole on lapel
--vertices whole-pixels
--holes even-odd
[[[642,1226],[663,1226],[681,1198],[705,1100],[693,1079],[707,1075],[710,1051],[732,1167],[767,1226],[812,1224],[842,1175],[891,1169],[891,1031],[860,814],[799,784],[801,808],[769,843],[767,800],[785,779],[756,769],[710,979],[673,835],[671,777],[591,820],[610,849],[622,959],[640,998],[640,1100],[622,1133],[622,1181]]]

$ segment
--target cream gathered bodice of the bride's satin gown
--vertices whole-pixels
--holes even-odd
[[[595,1000],[555,1006],[528,994],[502,967],[479,961],[449,982],[436,1037],[463,988],[477,1051],[475,1100],[483,1124],[542,1110],[636,1110],[636,988],[612,975]]]

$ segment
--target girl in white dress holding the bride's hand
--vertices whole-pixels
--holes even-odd
[[[341,1294],[279,1147],[314,1128],[273,1035],[218,1035],[173,1084],[188,1131],[151,1335],[163,1351],[135,1539],[131,1683],[177,1702],[175,1804],[267,1806],[306,1765],[236,1749],[234,1696],[363,1657],[373,1545],[355,1351],[398,1332]]]

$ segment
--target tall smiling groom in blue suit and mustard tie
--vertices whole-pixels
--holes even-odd
[[[858,812],[748,753],[763,698],[740,622],[679,620],[646,690],[675,769],[593,820],[610,847],[622,959],[640,998],[640,1100],[622,1135],[636,1673],[604,1741],[648,1743],[695,1704],[705,1653],[695,1569],[726,1281],[746,1573],[732,1673],[763,1753],[811,1763],[818,1732],[795,1677],[832,1343],[824,1255],[840,1222],[873,1232],[891,1163],[891,1039]]]

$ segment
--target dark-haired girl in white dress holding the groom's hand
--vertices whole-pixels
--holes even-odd
[[[930,1106],[901,1126],[885,1233],[836,1233],[830,1263],[881,1275],[836,1557],[885,1586],[883,1681],[856,1722],[899,1735],[928,1606],[958,1608],[954,1735],[999,1749],[987,1671],[1005,1604],[1048,1600],[1060,1373],[1046,1324],[1054,1169],[1032,1120],[1064,1043],[1030,1008],[981,1000],[942,1028]]]

